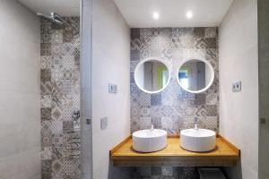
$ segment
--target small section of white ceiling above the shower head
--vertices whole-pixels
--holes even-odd
[[[79,16],[80,0],[18,0],[35,13],[56,12],[62,16]]]

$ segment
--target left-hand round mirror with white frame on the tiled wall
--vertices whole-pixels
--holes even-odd
[[[147,93],[160,92],[168,86],[169,80],[169,68],[158,58],[144,59],[134,70],[136,85]]]

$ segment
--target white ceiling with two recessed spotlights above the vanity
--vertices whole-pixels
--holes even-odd
[[[114,0],[132,28],[211,27],[220,25],[233,0]],[[187,11],[193,18],[187,20]],[[152,13],[160,19],[152,19]]]

